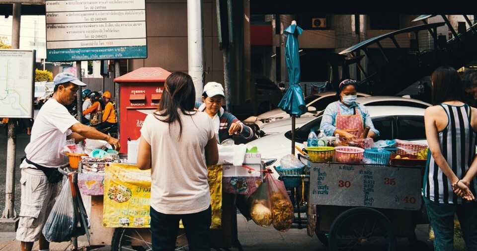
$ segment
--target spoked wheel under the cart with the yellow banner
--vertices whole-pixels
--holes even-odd
[[[180,237],[180,236],[179,236]],[[177,238],[179,239],[179,238]],[[184,251],[187,244],[178,241],[176,251]],[[149,228],[116,228],[111,240],[111,251],[152,251],[151,229]]]

